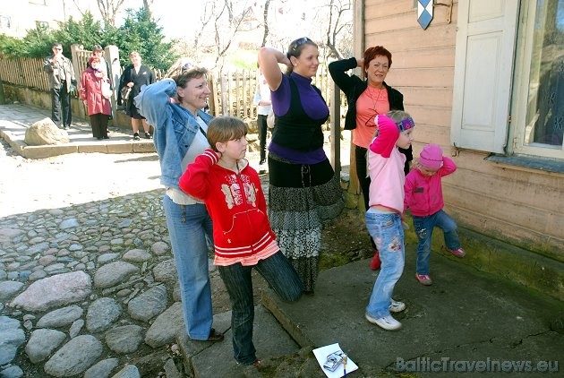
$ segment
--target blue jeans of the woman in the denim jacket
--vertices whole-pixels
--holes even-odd
[[[213,322],[206,240],[208,236],[213,243],[211,219],[205,205],[179,205],[167,194],[163,207],[175,254],[186,333],[191,339],[205,340]]]

